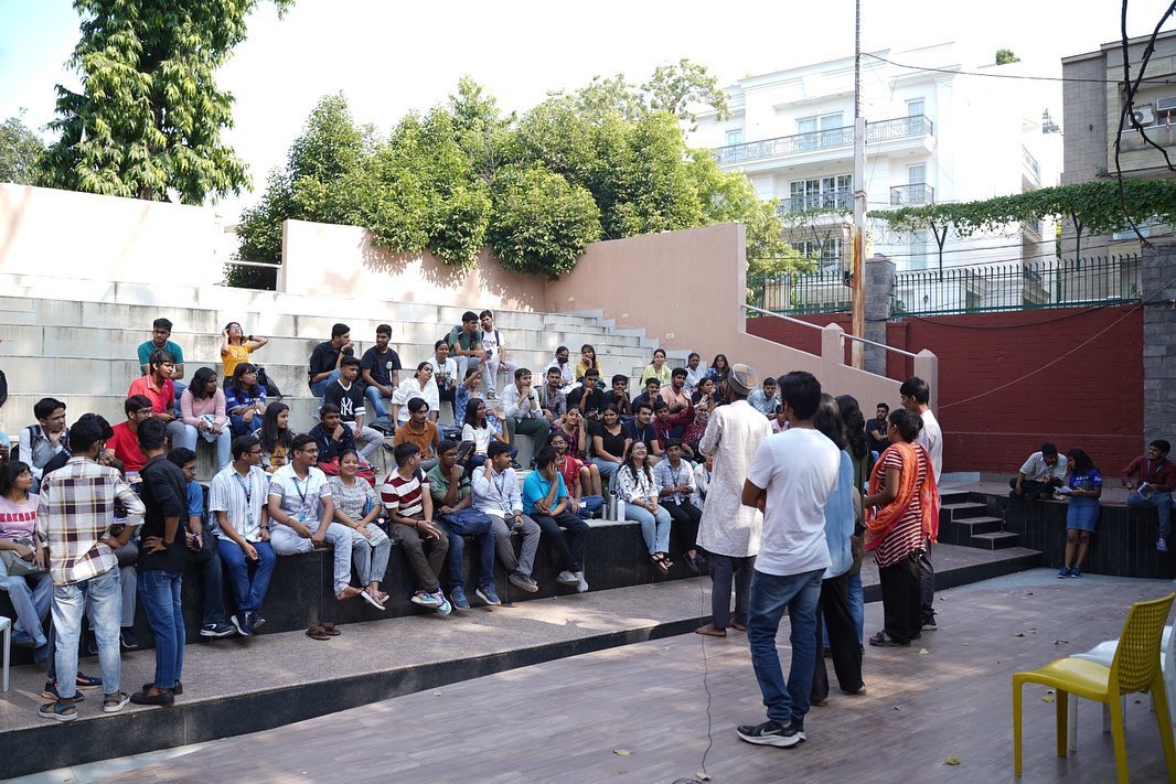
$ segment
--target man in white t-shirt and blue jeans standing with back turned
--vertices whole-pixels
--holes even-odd
[[[821,382],[810,373],[794,371],[781,376],[779,388],[791,424],[760,442],[742,496],[744,505],[763,511],[747,638],[768,721],[741,725],[737,733],[748,743],[787,748],[804,741],[817,656],[821,576],[831,563],[824,541],[824,503],[837,487],[841,456],[836,445],[813,428]],[[786,609],[793,646],[787,686],[776,651],[776,632]]]

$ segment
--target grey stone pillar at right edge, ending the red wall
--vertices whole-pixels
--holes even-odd
[[[1143,441],[1176,438],[1176,241],[1152,240],[1144,248]],[[1140,444],[1141,449],[1143,444]]]

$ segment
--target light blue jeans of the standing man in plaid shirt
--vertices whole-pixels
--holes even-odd
[[[102,670],[102,691],[118,693],[122,678],[119,657],[119,623],[122,619],[122,587],[118,568],[68,585],[53,587],[53,629],[56,636],[54,665],[60,678],[58,693],[64,699],[78,693],[74,674],[78,671],[78,641],[81,637],[81,616],[88,610],[89,625],[98,641],[98,662]]]

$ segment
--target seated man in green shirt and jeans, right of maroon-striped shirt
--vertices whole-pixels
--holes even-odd
[[[497,607],[502,602],[494,590],[493,520],[474,507],[469,476],[457,462],[457,443],[442,441],[437,447],[437,454],[441,460],[426,478],[429,482],[429,492],[433,495],[433,509],[437,520],[445,523],[445,530],[449,535],[449,555],[446,561],[449,598],[456,609],[469,609],[469,599],[466,598],[463,556],[466,537],[472,536],[477,551],[477,597],[490,607]]]

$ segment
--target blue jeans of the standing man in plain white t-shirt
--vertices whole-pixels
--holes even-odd
[[[808,713],[816,665],[816,607],[821,599],[823,569],[780,577],[760,570],[751,574],[751,601],[748,607],[747,639],[751,645],[751,666],[768,709],[777,724],[803,722]],[[776,632],[788,609],[791,626],[788,636],[793,661],[788,685],[780,666]]]

